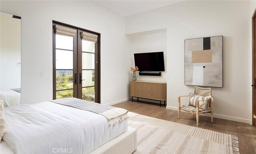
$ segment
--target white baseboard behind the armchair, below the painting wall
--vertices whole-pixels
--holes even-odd
[[[178,111],[178,107],[166,106],[166,109]],[[204,116],[211,116],[211,114],[204,114]],[[251,120],[249,120],[249,119],[238,118],[238,117],[234,117],[234,116],[226,116],[226,115],[213,114],[213,117],[214,118],[222,118],[222,119],[226,119],[226,120],[232,120],[232,121],[238,121],[238,122],[244,122],[244,123],[247,123],[247,124],[251,124]]]

